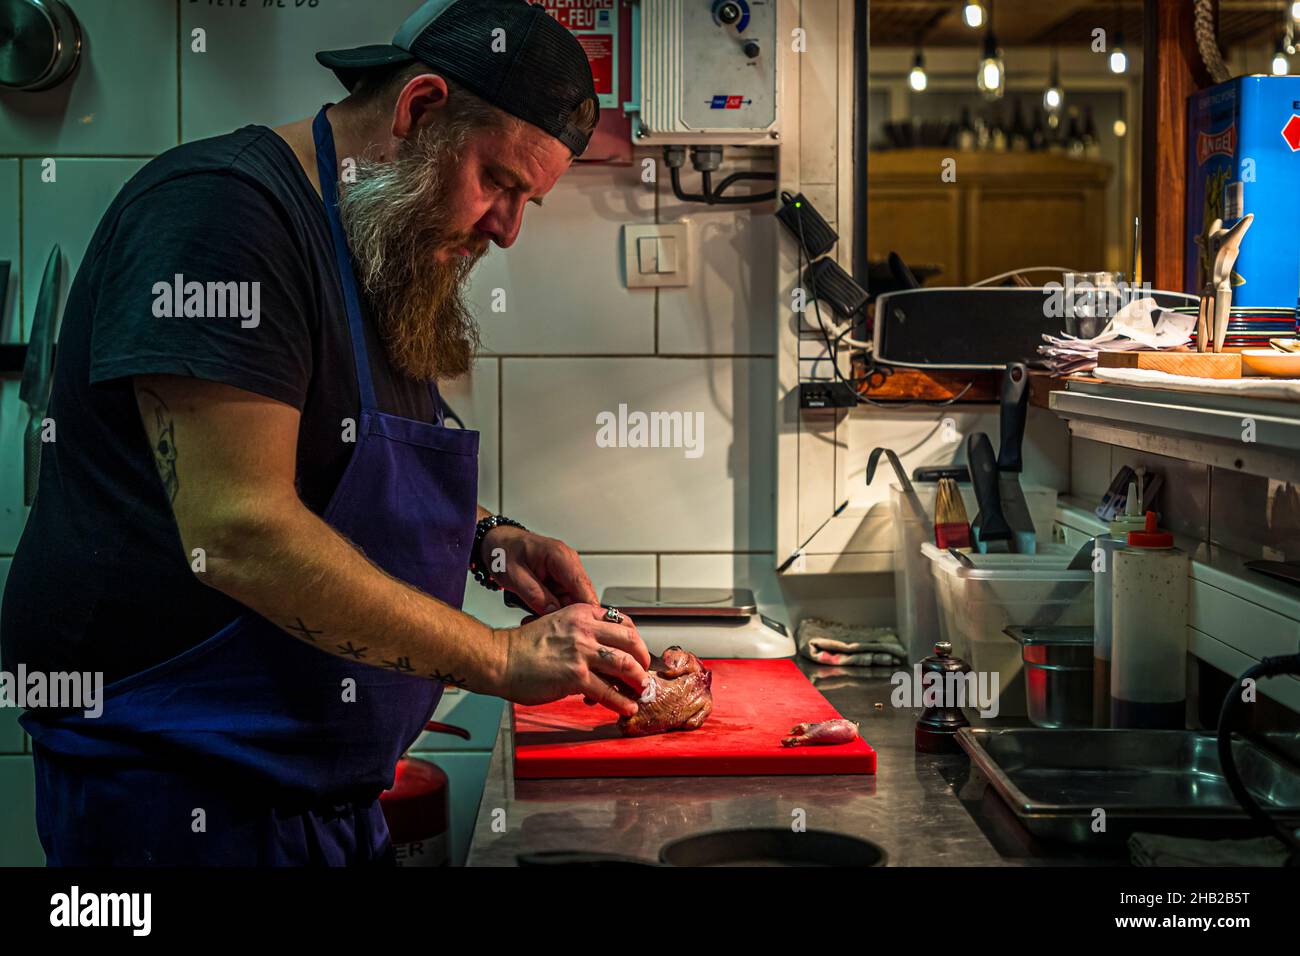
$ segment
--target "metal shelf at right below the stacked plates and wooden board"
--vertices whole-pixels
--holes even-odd
[[[1070,381],[1048,407],[1079,438],[1300,481],[1295,402]]]

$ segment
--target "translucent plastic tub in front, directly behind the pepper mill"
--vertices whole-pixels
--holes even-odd
[[[1024,662],[1008,627],[1092,626],[1092,570],[1066,570],[1076,550],[1049,544],[1037,554],[971,554],[974,567],[967,567],[932,544],[922,545],[935,579],[941,637],[971,670],[998,675],[1001,715],[1027,713]]]

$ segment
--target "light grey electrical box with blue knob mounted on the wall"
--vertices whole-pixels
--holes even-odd
[[[638,144],[776,146],[776,0],[641,0]]]

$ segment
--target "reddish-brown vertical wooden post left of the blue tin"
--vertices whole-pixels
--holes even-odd
[[[1141,278],[1180,291],[1187,221],[1187,98],[1210,86],[1192,0],[1145,0],[1141,113]],[[1193,280],[1195,281],[1195,280]]]

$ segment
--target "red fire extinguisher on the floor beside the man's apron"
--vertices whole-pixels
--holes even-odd
[[[469,740],[469,731],[429,721],[432,734]],[[407,754],[398,761],[393,787],[380,793],[380,809],[398,866],[446,866],[451,857],[447,775],[433,763]]]

